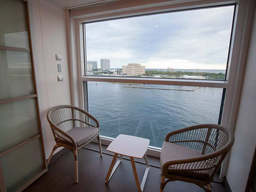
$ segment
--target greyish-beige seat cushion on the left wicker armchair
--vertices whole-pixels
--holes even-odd
[[[97,135],[98,132],[99,128],[97,127],[74,127],[67,131],[75,139],[77,146],[86,143],[93,136]]]

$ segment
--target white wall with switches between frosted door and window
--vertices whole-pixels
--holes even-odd
[[[71,104],[66,13],[46,0],[29,0],[28,3],[42,132],[48,158],[55,141],[46,113],[56,105]],[[56,61],[56,53],[62,55],[61,61]],[[61,64],[60,73],[57,64]],[[58,82],[57,75],[63,75],[64,80]]]

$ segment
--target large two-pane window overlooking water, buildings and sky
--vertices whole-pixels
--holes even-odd
[[[102,137],[220,124],[235,5],[83,23],[84,103]]]

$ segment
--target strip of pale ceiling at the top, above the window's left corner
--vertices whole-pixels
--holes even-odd
[[[87,5],[94,5],[98,3],[105,3],[115,0],[48,0],[53,4],[56,4],[65,9],[73,9],[78,7],[84,7]]]

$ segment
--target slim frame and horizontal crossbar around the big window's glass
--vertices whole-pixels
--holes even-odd
[[[180,11],[189,11],[189,10],[199,10],[199,9],[206,9],[206,8],[214,8],[214,7],[225,7],[225,6],[231,6],[234,5],[234,12],[233,12],[233,22],[231,27],[231,34],[230,34],[230,44],[229,44],[229,51],[227,56],[227,64],[226,64],[226,74],[225,79],[178,79],[178,78],[152,78],[152,77],[131,77],[131,76],[96,76],[96,75],[87,75],[87,59],[86,59],[86,31],[85,31],[85,25],[87,23],[95,23],[95,22],[102,22],[102,21],[108,21],[108,20],[116,20],[116,19],[125,19],[125,18],[134,18],[139,16],[147,16],[147,15],[156,15],[156,14],[166,14],[166,13],[172,13],[172,12],[180,12]],[[138,14],[133,16],[121,16],[116,17],[112,19],[99,19],[89,22],[82,22],[82,30],[83,30],[83,64],[84,64],[84,75],[82,77],[83,80],[83,92],[84,92],[84,109],[86,109],[89,112],[89,101],[88,101],[88,90],[87,90],[87,82],[93,81],[93,82],[116,82],[116,83],[141,83],[141,84],[160,84],[160,85],[177,85],[177,86],[195,86],[195,87],[216,87],[216,88],[223,88],[223,94],[222,94],[222,101],[221,101],[221,107],[220,107],[220,113],[219,113],[219,121],[218,123],[221,124],[222,120],[222,114],[223,114],[223,103],[225,101],[225,92],[228,86],[228,80],[227,80],[227,68],[229,64],[229,54],[231,49],[231,38],[233,35],[233,25],[234,25],[234,14],[236,11],[236,3],[231,4],[224,4],[224,5],[214,5],[214,6],[206,6],[206,7],[198,7],[198,8],[188,8],[188,9],[180,9],[180,10],[172,10],[172,11],[164,11],[164,12],[156,12],[156,13],[150,13],[150,14]],[[224,97],[223,97],[224,96]],[[102,139],[107,140],[113,140],[114,138],[108,137],[108,136],[102,136]],[[108,143],[108,142],[107,142]],[[148,148],[161,151],[160,147],[155,146],[149,146]]]

